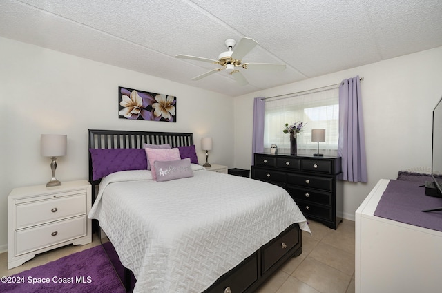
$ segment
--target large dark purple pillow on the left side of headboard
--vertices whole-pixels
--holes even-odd
[[[118,171],[147,169],[144,149],[89,149],[92,158],[92,180]]]

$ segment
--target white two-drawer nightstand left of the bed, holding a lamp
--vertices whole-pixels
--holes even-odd
[[[8,196],[8,270],[41,252],[92,242],[87,180],[12,189]]]

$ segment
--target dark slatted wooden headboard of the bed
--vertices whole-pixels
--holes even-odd
[[[92,185],[93,200],[95,188],[101,180],[92,179],[89,149],[142,149],[145,143],[170,144],[171,147],[191,146],[193,133],[88,129],[89,182]]]

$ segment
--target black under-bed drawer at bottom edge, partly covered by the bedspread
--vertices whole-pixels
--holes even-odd
[[[227,292],[227,287],[232,293],[244,292],[256,280],[258,280],[258,255],[254,253],[239,265],[236,274],[231,275],[227,272],[224,277],[220,278],[218,285],[215,285],[210,291],[204,291],[204,293]]]

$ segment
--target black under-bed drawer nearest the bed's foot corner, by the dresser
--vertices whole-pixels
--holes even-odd
[[[262,252],[262,274],[269,270],[282,256],[299,243],[298,231],[289,229],[282,232]]]

